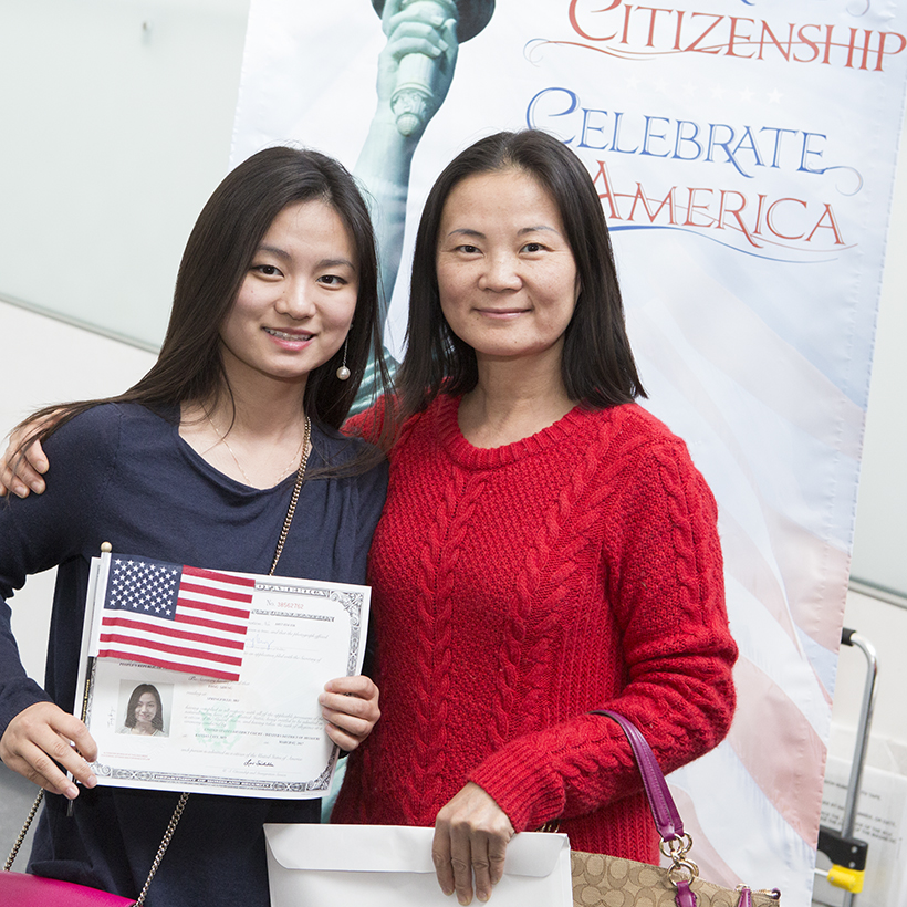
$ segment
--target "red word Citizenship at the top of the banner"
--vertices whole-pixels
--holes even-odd
[[[706,53],[749,61],[817,63],[883,72],[903,53],[899,32],[817,22],[769,22],[742,15],[571,0],[570,24],[585,46],[615,56]],[[563,43],[563,42],[551,42]]]

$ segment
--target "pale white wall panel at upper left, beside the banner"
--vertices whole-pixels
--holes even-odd
[[[0,0],[0,295],[159,345],[229,166],[248,7]]]

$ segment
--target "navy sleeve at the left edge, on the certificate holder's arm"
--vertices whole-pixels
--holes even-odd
[[[62,426],[44,449],[53,463],[48,491],[0,502],[0,736],[20,711],[49,701],[25,674],[8,601],[33,573],[79,555],[116,462],[119,409],[88,410]]]

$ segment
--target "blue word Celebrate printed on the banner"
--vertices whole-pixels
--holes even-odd
[[[826,140],[822,133],[584,107],[570,88],[549,87],[535,94],[527,105],[527,125],[554,133],[576,148],[730,164],[749,178],[755,167],[817,175],[837,169],[822,166]]]

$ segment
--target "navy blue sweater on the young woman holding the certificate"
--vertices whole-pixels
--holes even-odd
[[[309,471],[352,456],[359,441],[313,427]],[[28,706],[72,711],[88,563],[102,542],[163,561],[268,573],[291,476],[252,489],[213,469],[178,434],[178,410],[108,404],[77,416],[45,445],[48,492],[0,503],[0,733]],[[306,480],[277,574],[364,583],[385,467]],[[58,565],[43,689],[25,676],[6,600],[25,576]],[[72,816],[49,795],[30,870],[135,897],[178,794],[82,790]],[[267,907],[262,824],[317,821],[317,801],[192,794],[152,885],[147,907]]]

